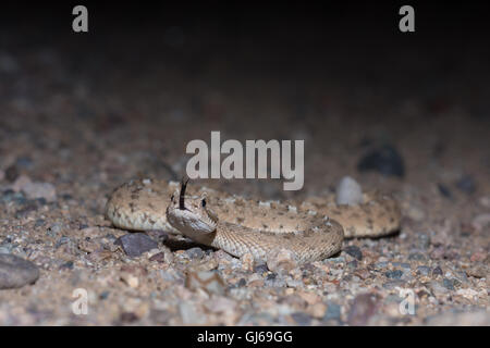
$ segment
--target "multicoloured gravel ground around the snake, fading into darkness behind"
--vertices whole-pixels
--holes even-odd
[[[488,57],[448,58],[448,67],[443,50],[417,60],[401,49],[375,62],[332,39],[338,55],[278,59],[267,39],[241,37],[230,49],[226,36],[200,33],[171,27],[156,46],[140,40],[146,32],[120,41],[4,37],[0,324],[490,325]],[[414,79],[399,84],[399,71]],[[400,233],[271,271],[162,232],[111,226],[112,189],[179,179],[186,144],[209,142],[211,130],[305,139],[305,186],[193,185],[302,201],[350,175],[396,197]],[[76,314],[85,294],[88,312]]]

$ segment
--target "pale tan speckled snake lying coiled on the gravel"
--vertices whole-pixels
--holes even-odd
[[[208,188],[187,190],[187,182],[136,179],[109,197],[106,215],[115,227],[166,231],[235,257],[267,260],[287,249],[297,262],[338,253],[344,237],[378,237],[400,228],[396,201],[377,191],[363,203],[335,204],[334,195],[299,206],[256,201]]]

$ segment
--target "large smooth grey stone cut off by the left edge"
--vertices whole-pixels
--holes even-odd
[[[33,262],[13,254],[0,254],[0,289],[23,287],[38,277],[39,269]]]

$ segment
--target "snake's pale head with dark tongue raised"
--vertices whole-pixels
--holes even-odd
[[[209,209],[206,192],[200,196],[185,195],[187,183],[188,178],[183,178],[180,188],[172,195],[167,220],[183,235],[198,239],[216,231],[218,216]]]

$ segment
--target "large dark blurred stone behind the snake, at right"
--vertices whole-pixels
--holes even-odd
[[[405,175],[405,165],[399,151],[390,145],[382,146],[366,153],[357,163],[359,172],[377,171],[387,176]]]

